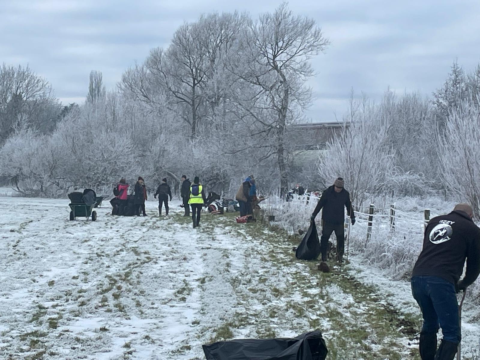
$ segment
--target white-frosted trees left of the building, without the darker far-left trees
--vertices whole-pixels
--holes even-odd
[[[311,102],[309,60],[328,43],[314,20],[286,4],[257,20],[238,12],[202,16],[125,71],[115,91],[92,72],[86,103],[53,133],[17,129],[0,153],[1,173],[21,189],[35,179],[41,191],[62,193],[125,173],[154,180],[201,174],[221,191],[253,172],[285,191],[294,148],[288,126]],[[39,147],[36,164],[13,154],[23,142]]]

